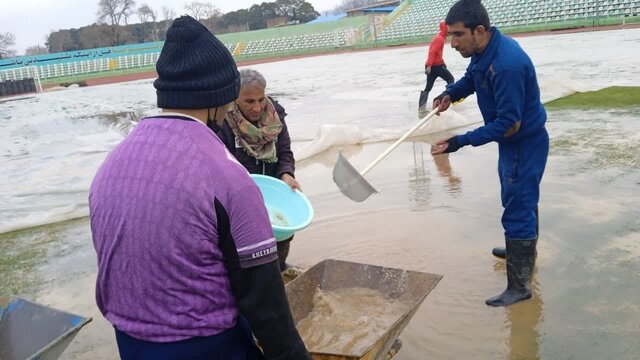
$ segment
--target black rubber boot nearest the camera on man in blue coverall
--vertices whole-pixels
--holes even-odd
[[[507,289],[502,294],[487,299],[487,305],[509,306],[531,298],[536,243],[536,240],[507,240]]]

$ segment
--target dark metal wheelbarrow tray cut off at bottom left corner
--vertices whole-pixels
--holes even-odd
[[[0,359],[53,360],[91,318],[0,296]]]

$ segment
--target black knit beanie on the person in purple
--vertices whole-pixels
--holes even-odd
[[[240,92],[240,74],[229,50],[190,16],[175,19],[167,30],[156,71],[159,108],[218,107]]]

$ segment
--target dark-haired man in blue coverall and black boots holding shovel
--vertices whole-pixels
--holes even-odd
[[[496,248],[494,255],[506,255],[507,289],[486,303],[507,306],[532,296],[540,181],[549,153],[547,115],[531,59],[517,42],[490,26],[480,0],[459,0],[445,22],[452,35],[451,47],[471,62],[464,77],[434,99],[433,108],[445,111],[451,102],[475,93],[484,125],[438,141],[432,153],[498,143],[506,250]]]

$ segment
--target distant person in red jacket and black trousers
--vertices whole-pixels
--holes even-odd
[[[442,52],[446,41],[447,24],[445,24],[444,21],[440,21],[440,32],[431,40],[427,62],[424,64],[424,73],[427,74],[427,86],[420,92],[420,101],[418,103],[420,109],[425,108],[429,92],[433,88],[433,84],[437,78],[442,78],[447,82],[447,85],[454,82],[453,75],[447,70],[447,64],[445,64],[442,59]]]

